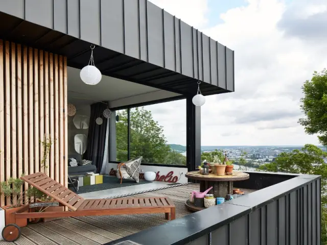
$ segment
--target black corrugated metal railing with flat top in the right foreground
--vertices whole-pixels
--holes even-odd
[[[320,244],[320,194],[320,176],[292,176],[107,244]]]

